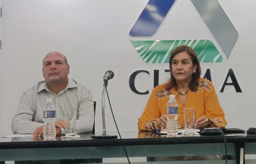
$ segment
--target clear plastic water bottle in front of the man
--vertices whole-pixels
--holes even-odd
[[[53,105],[53,99],[46,99],[46,106],[44,110],[44,139],[55,138],[56,136],[56,128],[55,128],[55,121],[56,121],[56,108]]]

